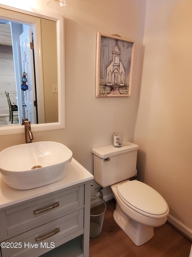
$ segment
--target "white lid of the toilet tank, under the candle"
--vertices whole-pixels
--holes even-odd
[[[92,153],[94,153],[100,158],[107,158],[110,156],[122,154],[125,152],[131,152],[138,149],[139,149],[139,146],[134,143],[123,142],[121,147],[115,147],[113,145],[102,146],[102,147],[92,149]]]

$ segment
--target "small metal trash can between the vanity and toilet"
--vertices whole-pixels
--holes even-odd
[[[99,205],[96,205],[90,210],[90,238],[98,237],[101,234],[104,215],[106,211],[106,204],[104,200],[91,197],[91,201],[99,201]]]

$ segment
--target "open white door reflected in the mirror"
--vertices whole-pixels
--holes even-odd
[[[35,100],[35,78],[34,78],[34,64],[33,64],[33,50],[30,48],[30,42],[32,42],[32,30],[31,27],[27,28],[20,35],[20,46],[21,46],[21,60],[22,60],[22,71],[26,72],[26,78],[28,89],[24,91],[25,105],[26,107],[26,118],[31,123],[37,123],[36,108],[34,106]]]

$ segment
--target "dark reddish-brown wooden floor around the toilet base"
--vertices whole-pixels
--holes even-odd
[[[191,242],[165,223],[154,237],[136,246],[113,220],[115,200],[107,203],[102,232],[90,239],[90,257],[189,257]]]

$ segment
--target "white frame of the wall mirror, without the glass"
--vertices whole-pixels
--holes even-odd
[[[53,13],[41,9],[34,9],[33,12],[17,9],[14,7],[1,5],[0,8],[5,10],[15,11],[17,13],[28,14],[32,17],[39,17],[56,22],[57,30],[57,75],[58,75],[58,122],[55,123],[44,123],[44,124],[32,124],[32,131],[42,131],[42,130],[53,130],[64,128],[65,122],[65,111],[64,111],[64,16],[58,13]],[[10,19],[6,15],[1,14],[1,18]],[[13,20],[16,20],[12,17]],[[32,23],[30,23],[32,24]],[[36,27],[35,27],[36,26]],[[34,28],[38,31],[39,24],[34,24]],[[50,37],[51,40],[51,37]],[[39,67],[38,71],[41,73],[42,61],[41,61],[41,51],[37,52],[37,65]],[[40,78],[41,79],[41,78]],[[46,85],[44,85],[46,86]],[[21,124],[0,127],[0,135],[24,133],[24,127]]]

